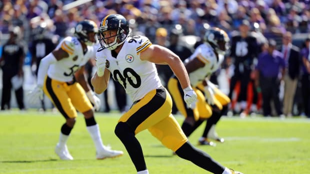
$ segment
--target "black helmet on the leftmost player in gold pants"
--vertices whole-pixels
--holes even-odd
[[[94,21],[88,19],[78,22],[74,28],[74,36],[86,45],[93,45],[95,42],[95,39],[91,41],[92,39],[88,35],[91,32],[96,34],[98,32],[98,26]]]

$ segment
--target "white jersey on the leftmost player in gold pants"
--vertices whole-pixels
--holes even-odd
[[[65,37],[56,48],[61,47],[69,54],[68,57],[58,60],[49,65],[47,75],[51,79],[69,82],[72,81],[74,72],[89,60],[94,58],[98,45],[87,46],[87,51],[83,54],[82,45],[76,37]]]

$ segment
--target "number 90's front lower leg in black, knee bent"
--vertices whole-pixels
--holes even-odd
[[[114,133],[125,146],[136,171],[145,171],[146,164],[142,148],[135,138],[134,130],[127,123],[119,122],[115,127]]]

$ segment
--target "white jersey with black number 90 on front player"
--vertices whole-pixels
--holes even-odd
[[[108,49],[96,54],[97,58],[106,58],[106,68],[113,79],[124,87],[133,102],[162,86],[155,64],[140,59],[140,52],[151,44],[147,37],[137,35],[124,41],[116,58]]]

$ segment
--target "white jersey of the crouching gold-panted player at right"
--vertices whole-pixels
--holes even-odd
[[[199,45],[195,49],[194,53],[188,58],[188,60],[185,61],[190,61],[195,57],[197,57],[201,62],[203,62],[204,66],[188,74],[190,84],[192,86],[197,86],[205,79],[205,77],[215,72],[224,59],[224,55],[222,54],[218,54],[217,59],[212,47],[207,43]]]

